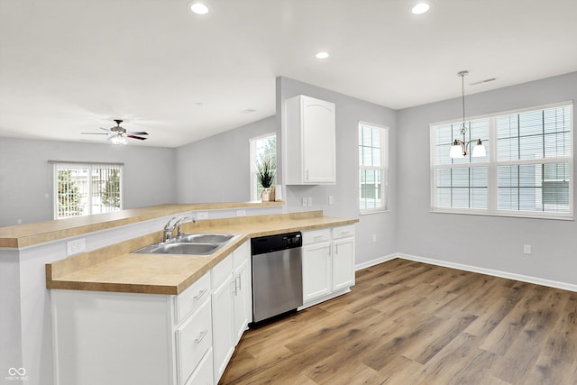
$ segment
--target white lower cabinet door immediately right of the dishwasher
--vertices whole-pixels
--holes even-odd
[[[303,302],[323,297],[332,291],[331,244],[303,246]]]

